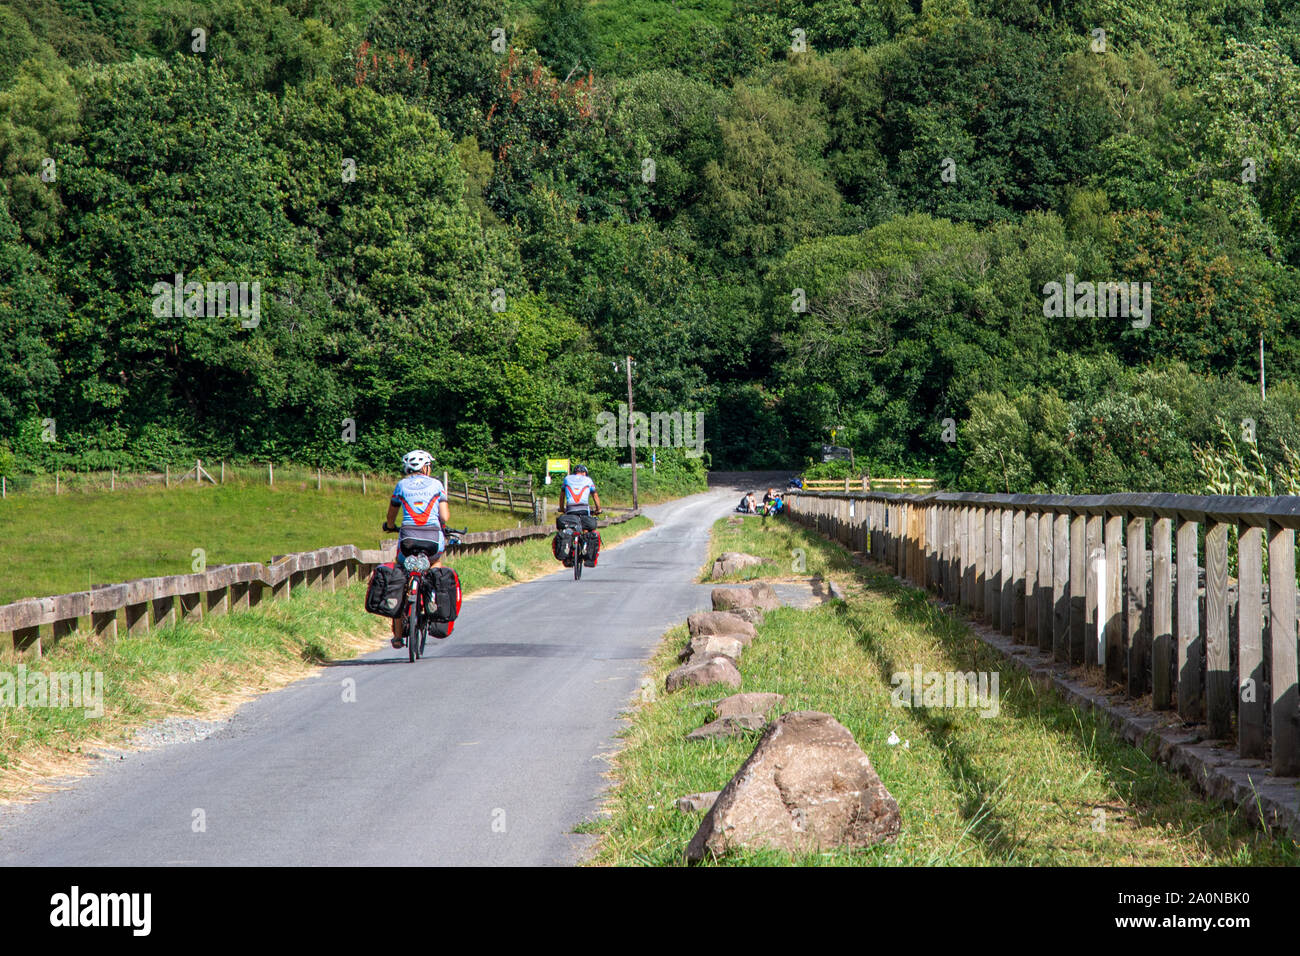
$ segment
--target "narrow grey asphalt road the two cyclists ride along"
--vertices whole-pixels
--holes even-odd
[[[572,830],[599,808],[619,713],[663,632],[707,607],[694,579],[733,497],[647,509],[655,527],[581,581],[468,600],[424,661],[339,662],[203,740],[0,810],[0,866],[577,862],[592,838]]]

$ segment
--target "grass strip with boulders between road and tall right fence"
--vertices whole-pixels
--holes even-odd
[[[881,571],[853,566],[838,545],[786,522],[715,525],[715,549],[744,550],[789,568],[803,549],[809,570],[833,572],[848,601],[780,609],[740,662],[742,691],[785,695],[781,711],[835,715],[866,750],[902,810],[902,834],[864,851],[790,858],[771,851],[731,865],[1296,865],[1286,838],[1265,835],[1234,808],[1206,803],[1183,778],[1082,715],[988,650],[967,627]],[[722,687],[663,696],[685,627],[668,632],[650,678],[658,700],[633,705],[597,864],[680,865],[702,814],[673,801],[722,790],[758,735],[686,741],[711,717],[694,706]],[[961,708],[900,708],[890,676],[923,671],[1000,672],[996,717]],[[890,734],[898,743],[890,745]]]

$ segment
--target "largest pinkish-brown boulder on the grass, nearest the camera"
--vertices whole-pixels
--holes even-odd
[[[686,858],[741,847],[870,847],[901,829],[898,803],[848,728],[829,714],[797,710],[763,734],[705,816]]]

